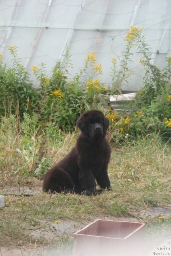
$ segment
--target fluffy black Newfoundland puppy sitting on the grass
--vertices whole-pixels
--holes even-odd
[[[47,171],[43,191],[90,196],[110,190],[107,173],[110,145],[105,138],[109,120],[99,110],[88,110],[79,117],[77,126],[81,134],[75,147]],[[101,190],[96,190],[96,182]]]

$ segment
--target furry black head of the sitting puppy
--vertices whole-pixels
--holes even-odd
[[[88,110],[79,117],[77,126],[85,136],[96,139],[106,136],[109,120],[100,110]]]

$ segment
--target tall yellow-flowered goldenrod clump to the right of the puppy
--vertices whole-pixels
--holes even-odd
[[[167,65],[163,70],[152,64],[149,46],[145,42],[145,36],[142,34],[142,28],[130,27],[125,36],[125,59],[122,60],[122,71],[118,87],[116,80],[118,71],[116,58],[112,59],[112,88],[120,88],[123,80],[128,80],[132,71],[128,70],[127,64],[131,62],[130,49],[136,47],[143,54],[140,63],[145,69],[143,86],[136,94],[135,103],[131,105],[130,110],[122,111],[117,118],[112,118],[111,109],[108,110],[108,117],[111,120],[110,136],[115,143],[126,142],[140,138],[159,136],[165,141],[171,138],[171,56],[167,58]],[[124,68],[125,67],[125,68]],[[116,91],[117,91],[116,90]],[[121,93],[121,92],[120,92]],[[116,110],[114,110],[116,115]]]

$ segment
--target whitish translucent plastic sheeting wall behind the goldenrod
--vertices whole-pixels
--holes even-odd
[[[152,63],[164,67],[171,55],[170,0],[1,0],[0,52],[10,66],[8,46],[18,46],[18,56],[29,72],[32,65],[44,62],[50,75],[68,44],[73,76],[86,53],[95,51],[97,64],[103,68],[99,78],[108,86],[112,58],[117,58],[118,64],[123,59],[129,26],[144,28]],[[142,86],[142,55],[136,49],[133,52],[129,68],[134,75],[122,85],[126,91]]]

